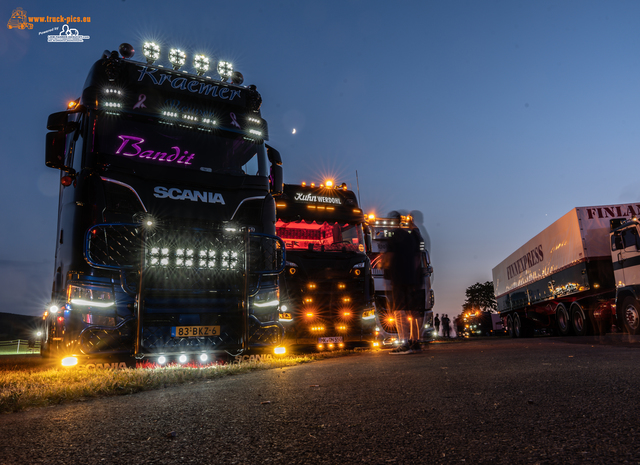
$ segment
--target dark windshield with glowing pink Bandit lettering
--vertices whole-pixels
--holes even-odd
[[[93,140],[94,152],[111,166],[269,175],[264,144],[230,131],[104,114],[95,120]]]

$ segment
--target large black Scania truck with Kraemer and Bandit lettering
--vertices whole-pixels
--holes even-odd
[[[67,364],[200,363],[277,349],[277,151],[255,86],[160,47],[105,51],[81,97],[49,116],[59,169],[52,302],[42,353]],[[230,82],[228,82],[230,80]],[[113,366],[113,364],[110,364]]]

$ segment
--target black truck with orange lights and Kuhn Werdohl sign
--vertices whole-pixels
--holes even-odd
[[[285,343],[320,350],[374,344],[370,236],[355,194],[331,181],[285,184],[276,205],[277,235],[287,249],[280,315]]]

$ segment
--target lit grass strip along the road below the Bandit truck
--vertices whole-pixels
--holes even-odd
[[[206,367],[168,366],[101,370],[73,367],[0,372],[0,413],[92,397],[133,394],[201,380],[268,370],[349,355],[349,351],[288,356],[269,361]]]

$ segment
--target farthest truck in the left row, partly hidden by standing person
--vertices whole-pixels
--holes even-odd
[[[390,290],[389,283],[384,278],[384,253],[387,251],[387,242],[395,228],[404,228],[412,234],[420,237],[420,268],[422,270],[421,285],[415,289],[411,301],[414,303],[412,310],[421,312],[424,315],[422,322],[421,338],[430,337],[433,334],[433,306],[435,304],[435,295],[431,288],[431,275],[433,267],[429,251],[424,247],[424,240],[420,234],[420,229],[413,222],[411,215],[401,215],[397,218],[378,218],[375,215],[369,215],[367,219],[371,236],[372,247],[369,253],[371,259],[371,272],[373,274],[373,282],[375,288],[376,299],[376,316],[378,327],[380,328],[380,339],[383,346],[393,345],[398,342],[398,334],[394,321],[393,311],[390,306]]]

